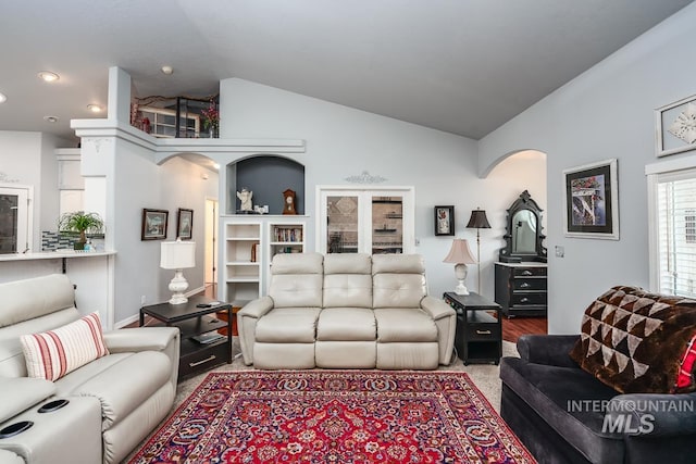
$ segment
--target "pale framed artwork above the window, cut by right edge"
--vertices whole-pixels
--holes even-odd
[[[696,149],[696,96],[655,110],[658,156]]]

